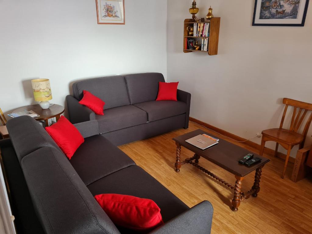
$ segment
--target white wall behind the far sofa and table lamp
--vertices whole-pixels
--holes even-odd
[[[97,24],[94,0],[0,0],[0,107],[34,104],[33,78],[64,105],[79,79],[137,72],[166,77],[167,0],[125,0],[125,25]]]

